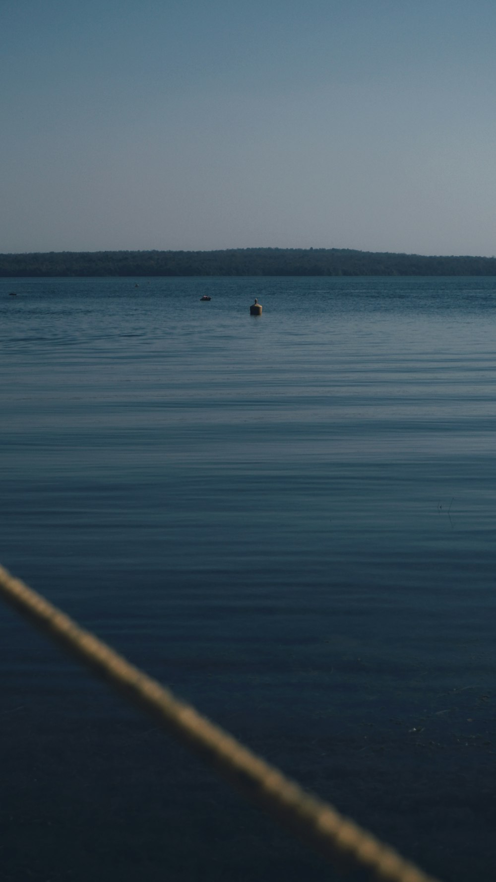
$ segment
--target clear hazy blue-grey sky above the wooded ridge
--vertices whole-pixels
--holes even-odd
[[[0,252],[496,254],[496,4],[0,0]]]

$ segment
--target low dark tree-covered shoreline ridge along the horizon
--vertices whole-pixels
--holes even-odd
[[[339,248],[48,251],[0,254],[0,276],[496,275],[496,258],[423,257]]]

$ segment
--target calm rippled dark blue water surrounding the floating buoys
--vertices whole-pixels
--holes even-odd
[[[138,281],[0,280],[0,561],[492,879],[496,280]],[[8,882],[337,878],[4,608],[0,662]]]

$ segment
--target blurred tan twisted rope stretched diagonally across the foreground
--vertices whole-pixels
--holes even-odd
[[[285,827],[312,843],[339,864],[367,869],[381,882],[435,882],[403,860],[331,805],[321,802],[285,778],[274,766],[248,751],[233,736],[176,699],[172,692],[135,668],[91,632],[57,609],[41,594],[0,566],[0,594],[43,632],[75,654],[115,689],[141,706],[211,766],[278,818]]]

